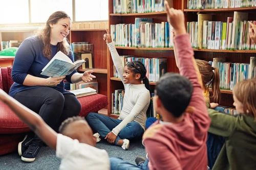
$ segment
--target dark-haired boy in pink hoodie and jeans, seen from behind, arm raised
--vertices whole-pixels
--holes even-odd
[[[154,108],[162,120],[157,120],[143,135],[148,159],[136,166],[120,158],[110,158],[111,169],[207,169],[210,118],[199,83],[202,80],[197,76],[199,70],[186,34],[184,14],[164,3],[167,20],[176,32],[175,57],[180,75],[164,74],[155,87]]]

